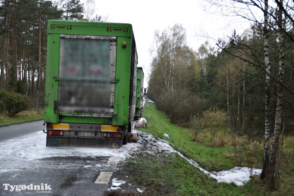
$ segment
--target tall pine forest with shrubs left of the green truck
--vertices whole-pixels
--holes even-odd
[[[103,21],[94,1],[3,0],[0,3],[0,114],[44,107],[47,21]],[[105,19],[104,19],[105,20]]]

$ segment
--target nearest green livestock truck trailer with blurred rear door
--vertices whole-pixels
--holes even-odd
[[[132,25],[50,20],[47,35],[46,146],[126,144],[136,111]]]

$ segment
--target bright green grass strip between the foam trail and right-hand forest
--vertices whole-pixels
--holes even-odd
[[[192,136],[188,129],[171,124],[163,112],[156,110],[154,104],[144,105],[143,117],[147,120],[148,129],[140,128],[147,133],[151,133],[157,138],[167,140],[171,146],[188,158],[210,171],[220,171],[235,167],[235,160],[224,159],[225,154],[234,154],[233,148],[213,148],[202,143],[192,141]],[[166,138],[164,134],[168,134]]]

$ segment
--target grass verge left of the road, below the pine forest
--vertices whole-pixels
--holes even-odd
[[[44,113],[36,111],[22,111],[14,117],[8,117],[7,115],[0,114],[0,126],[42,120],[43,118]]]

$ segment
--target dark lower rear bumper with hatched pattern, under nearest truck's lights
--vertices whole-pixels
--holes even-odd
[[[86,138],[86,137],[66,137],[47,135],[46,146],[48,147],[78,147],[96,146],[102,148],[121,148],[122,139],[116,138]]]

